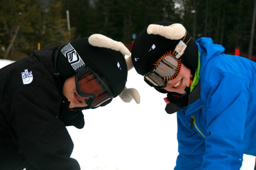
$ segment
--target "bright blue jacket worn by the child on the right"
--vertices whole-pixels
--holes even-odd
[[[243,153],[256,156],[256,63],[223,53],[211,38],[196,43],[200,99],[177,111],[175,169],[240,169]]]

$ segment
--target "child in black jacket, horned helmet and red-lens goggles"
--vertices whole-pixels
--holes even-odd
[[[118,95],[140,103],[125,87],[124,55],[122,43],[93,34],[0,69],[0,169],[80,169],[66,126],[83,128],[82,110]]]

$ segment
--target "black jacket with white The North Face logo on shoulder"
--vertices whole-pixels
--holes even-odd
[[[82,128],[83,113],[70,111],[61,93],[57,48],[0,69],[0,169],[80,169],[65,126]]]

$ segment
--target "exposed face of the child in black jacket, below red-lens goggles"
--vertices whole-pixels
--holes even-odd
[[[67,80],[64,82],[63,94],[65,97],[67,97],[68,101],[70,101],[68,108],[83,108],[85,106],[88,106],[86,104],[88,98],[81,97],[77,93],[75,75],[70,78],[67,78]]]

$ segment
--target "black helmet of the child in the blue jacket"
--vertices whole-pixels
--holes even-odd
[[[175,24],[173,22],[156,22],[156,25],[169,26]],[[148,34],[147,27],[140,32],[134,40],[132,46],[132,63],[136,71],[145,75],[148,73],[153,65],[164,53],[174,50],[177,44],[182,40],[180,39],[167,39],[158,34]],[[172,34],[172,32],[170,32]],[[189,33],[186,34],[186,39],[191,38]],[[186,41],[185,39],[185,41]],[[182,63],[189,69],[196,69],[198,66],[198,46],[195,40],[191,38],[187,44],[186,50],[181,55]]]

